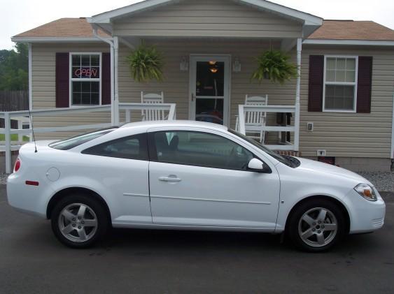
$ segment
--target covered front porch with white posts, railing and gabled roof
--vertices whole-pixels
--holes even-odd
[[[299,150],[302,40],[321,25],[321,18],[267,1],[148,0],[88,22],[111,47],[114,124],[120,122],[118,103],[141,102],[141,91],[163,92],[165,103],[176,103],[177,119],[231,128],[250,111],[246,95],[268,96],[267,105],[253,107],[267,113],[267,123],[255,131],[269,132],[265,144],[272,149]],[[98,30],[111,38],[99,36]],[[162,53],[162,82],[139,83],[130,77],[127,56],[141,43]],[[283,85],[251,80],[255,58],[272,48],[291,56],[298,78]],[[240,119],[239,131],[254,131],[248,127]]]

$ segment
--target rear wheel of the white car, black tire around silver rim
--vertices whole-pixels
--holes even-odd
[[[78,219],[77,214],[75,215],[76,218],[73,219],[71,219],[71,217],[67,218],[62,214],[62,212],[71,212],[74,214],[75,211],[78,210],[78,205],[80,205],[79,207],[85,207],[84,216],[81,219]],[[60,216],[60,214],[62,214],[62,216]],[[86,217],[86,219],[84,219],[84,217]],[[88,221],[94,223],[94,226],[88,226]],[[75,193],[59,200],[52,210],[51,224],[52,231],[57,237],[57,240],[68,247],[80,249],[92,247],[94,243],[101,240],[104,235],[106,235],[110,227],[110,221],[105,207],[103,207],[94,196],[83,193]],[[68,225],[70,225],[69,228],[71,228],[71,226],[73,228],[69,234],[65,234],[66,237],[64,233],[62,233],[60,227]],[[80,237],[78,231],[80,232],[81,230],[78,230],[78,228],[81,228],[81,230],[85,232],[84,237],[86,237],[87,240],[84,240],[84,237]],[[66,230],[64,230],[64,232],[66,232]],[[75,240],[73,240],[74,237]],[[80,240],[77,241],[77,239]]]

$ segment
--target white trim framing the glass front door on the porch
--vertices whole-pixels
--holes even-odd
[[[195,103],[192,102],[192,95],[195,94],[195,79],[196,79],[196,62],[197,61],[209,61],[209,60],[224,61],[227,64],[225,66],[225,84],[227,81],[227,87],[224,89],[224,101],[223,101],[223,125],[230,126],[230,110],[231,110],[231,79],[232,79],[232,57],[230,54],[190,54],[190,66],[189,66],[189,119],[195,120]]]

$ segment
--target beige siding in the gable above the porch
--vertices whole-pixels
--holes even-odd
[[[115,20],[113,34],[299,38],[302,24],[233,1],[192,0]]]

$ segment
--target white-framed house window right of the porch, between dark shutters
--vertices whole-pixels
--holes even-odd
[[[325,57],[323,110],[356,112],[358,57]]]

